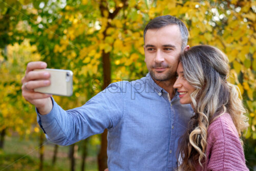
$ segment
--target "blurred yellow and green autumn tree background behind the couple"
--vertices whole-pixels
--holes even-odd
[[[34,106],[21,94],[26,65],[42,60],[48,68],[72,70],[73,96],[54,98],[64,109],[75,108],[110,82],[147,73],[143,29],[167,14],[186,24],[190,47],[207,44],[227,54],[229,81],[240,89],[248,110],[250,126],[243,134],[247,166],[256,170],[254,0],[0,0],[0,170],[105,168],[100,160],[104,137],[101,141],[95,135],[67,148],[45,140]]]

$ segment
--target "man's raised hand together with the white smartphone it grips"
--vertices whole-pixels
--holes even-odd
[[[46,115],[52,110],[52,94],[71,96],[73,93],[72,71],[46,67],[46,62],[29,62],[22,79],[23,96],[36,106],[41,115]]]

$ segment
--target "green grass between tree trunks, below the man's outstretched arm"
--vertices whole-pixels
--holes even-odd
[[[5,138],[4,149],[0,150],[0,171],[18,170],[39,170],[39,137],[20,139],[18,136]],[[56,163],[52,166],[54,144],[46,141],[44,145],[44,170],[66,171],[70,169],[68,158],[69,146],[59,146]],[[88,157],[86,159],[87,171],[96,171],[97,168],[97,147],[89,145]],[[81,152],[78,149],[76,154],[76,170],[81,170]]]

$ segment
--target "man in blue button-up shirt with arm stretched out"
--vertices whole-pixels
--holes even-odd
[[[187,50],[188,31],[177,18],[153,19],[144,29],[146,77],[110,84],[86,104],[64,111],[50,95],[33,91],[48,86],[44,62],[31,62],[23,78],[23,96],[36,106],[47,138],[69,145],[108,129],[110,170],[173,170],[178,139],[191,116],[173,89],[179,54]]]

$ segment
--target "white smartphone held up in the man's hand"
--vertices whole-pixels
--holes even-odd
[[[42,69],[34,71],[49,72],[51,77],[50,86],[34,89],[35,92],[58,95],[71,96],[73,94],[73,72],[70,70]]]

